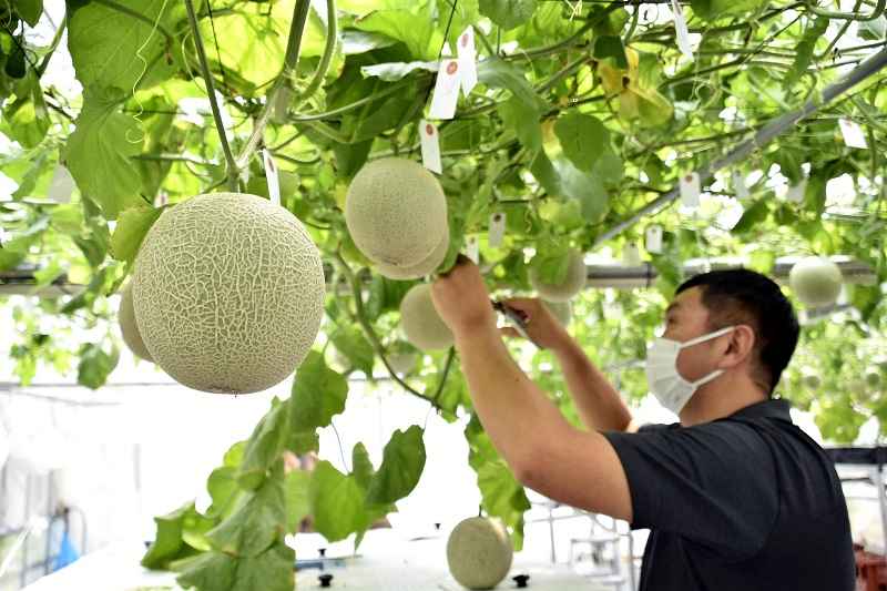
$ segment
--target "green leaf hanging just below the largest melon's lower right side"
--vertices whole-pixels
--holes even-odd
[[[293,381],[289,428],[305,431],[329,426],[333,417],[345,410],[347,397],[345,377],[329,369],[320,353],[312,350]]]

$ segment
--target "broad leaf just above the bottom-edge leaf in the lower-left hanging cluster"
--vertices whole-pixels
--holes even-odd
[[[237,557],[256,557],[283,536],[287,523],[283,465],[276,472],[206,533],[214,549]]]

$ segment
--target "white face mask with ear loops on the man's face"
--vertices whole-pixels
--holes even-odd
[[[696,381],[687,381],[677,371],[677,355],[681,349],[726,335],[734,328],[735,326],[727,326],[714,333],[691,338],[686,343],[662,337],[653,340],[646,350],[646,381],[650,386],[650,391],[653,393],[653,396],[656,397],[662,406],[675,415],[680,414],[690,401],[693,393],[724,373],[723,369],[715,369]]]

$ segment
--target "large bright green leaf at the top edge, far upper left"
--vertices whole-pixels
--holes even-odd
[[[125,7],[144,20],[99,2],[73,11],[68,49],[83,88],[116,88],[131,94],[140,81],[145,89],[175,71],[165,57],[166,40],[152,23],[174,29],[184,7],[163,0],[126,0]]]

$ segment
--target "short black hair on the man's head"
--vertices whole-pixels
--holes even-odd
[[[702,289],[712,329],[748,324],[755,332],[758,381],[768,396],[797,346],[801,327],[795,309],[776,282],[746,268],[712,271],[691,277],[676,294],[692,287]]]

